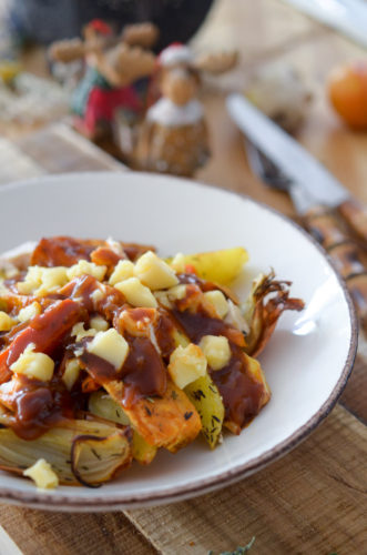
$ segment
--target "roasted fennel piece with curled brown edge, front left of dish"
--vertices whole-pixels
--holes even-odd
[[[132,460],[131,434],[94,421],[64,421],[37,440],[0,430],[0,467],[22,473],[44,458],[61,484],[96,486],[111,480]]]

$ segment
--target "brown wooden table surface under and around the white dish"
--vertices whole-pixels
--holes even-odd
[[[196,39],[197,47],[234,44],[241,68],[222,81],[241,88],[244,75],[273,59],[292,60],[308,78],[315,101],[299,134],[350,190],[367,202],[367,134],[340,125],[323,83],[330,67],[364,52],[278,0],[223,0]],[[213,158],[197,175],[293,215],[288,199],[269,191],[247,167],[242,138],[228,120],[223,93],[208,90],[205,108]],[[45,172],[126,169],[65,125],[16,143],[0,140],[0,182]],[[0,554],[217,555],[246,545],[254,555],[367,553],[367,347],[360,337],[351,379],[324,423],[283,460],[239,483],[170,506],[111,514],[45,513],[0,506]]]

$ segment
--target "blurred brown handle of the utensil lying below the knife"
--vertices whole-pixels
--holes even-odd
[[[303,223],[332,256],[347,284],[358,316],[367,321],[367,268],[364,250],[345,233],[337,216],[324,206],[309,210]]]

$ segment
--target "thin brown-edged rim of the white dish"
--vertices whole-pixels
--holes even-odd
[[[350,341],[348,346],[348,354],[345,360],[339,379],[335,384],[335,387],[333,389],[330,395],[323,403],[323,405],[310,416],[310,418],[308,418],[308,421],[305,424],[299,426],[295,432],[293,432],[293,434],[290,434],[288,437],[286,437],[283,442],[278,443],[274,447],[265,451],[264,453],[257,455],[256,457],[251,458],[246,463],[239,464],[231,470],[217,474],[216,476],[202,478],[200,482],[197,482],[192,486],[190,486],[190,484],[172,486],[169,490],[165,488],[162,493],[156,492],[154,494],[150,494],[149,492],[143,492],[143,493],[141,492],[135,494],[129,494],[129,496],[123,495],[122,493],[121,496],[112,496],[112,497],[109,497],[109,494],[106,494],[106,495],[96,495],[92,498],[88,497],[74,498],[72,494],[54,495],[52,492],[38,492],[37,490],[34,490],[34,492],[14,491],[13,488],[1,487],[0,501],[2,502],[10,502],[13,504],[22,504],[24,506],[28,505],[28,506],[33,506],[34,508],[44,508],[51,511],[70,509],[70,508],[80,512],[115,511],[120,508],[137,508],[144,505],[146,506],[146,505],[169,504],[177,501],[183,501],[185,498],[203,495],[207,492],[222,488],[239,480],[243,480],[246,476],[254,474],[255,472],[261,471],[268,464],[275,462],[276,460],[287,454],[289,451],[296,447],[300,442],[303,442],[332,412],[344,387],[346,386],[348,377],[353,370],[353,363],[356,356],[357,345],[358,345],[358,320],[345,281],[339,275],[330,255],[324,251],[324,249],[316,242],[316,240],[312,235],[309,235],[300,225],[290,220],[288,216],[277,211],[273,206],[268,206],[264,202],[254,200],[247,194],[228,190],[220,185],[203,183],[197,180],[188,180],[175,175],[152,174],[147,172],[133,172],[133,171],[121,171],[121,172],[86,171],[86,172],[68,172],[61,174],[44,174],[28,180],[19,180],[11,182],[9,184],[1,185],[0,196],[2,192],[11,191],[13,189],[21,189],[23,186],[37,184],[42,181],[58,182],[81,176],[92,178],[92,179],[95,179],[98,176],[99,178],[105,176],[106,179],[109,179],[111,175],[113,176],[119,175],[119,178],[122,179],[124,179],[124,176],[131,178],[133,175],[136,176],[141,175],[143,179],[149,179],[152,181],[155,180],[172,181],[175,182],[175,184],[181,184],[181,185],[185,183],[185,185],[192,186],[193,189],[196,186],[200,188],[204,186],[207,190],[221,191],[230,195],[235,195],[239,198],[242,201],[245,200],[252,204],[255,204],[256,206],[261,206],[265,211],[268,211],[274,215],[276,215],[277,218],[281,218],[288,225],[298,231],[306,239],[306,241],[308,241],[318,251],[318,253],[324,258],[324,260],[326,260],[330,271],[336,278],[337,283],[343,292],[344,300],[346,301],[348,307],[348,315],[350,322]]]

